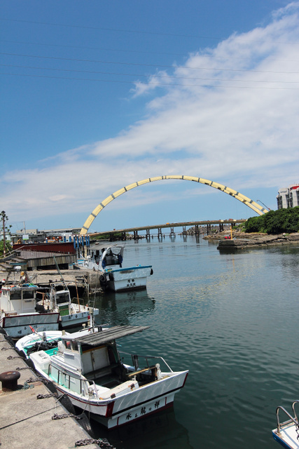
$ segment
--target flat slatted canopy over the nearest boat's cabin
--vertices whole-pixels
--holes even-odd
[[[113,328],[104,329],[96,333],[90,333],[88,335],[78,336],[74,339],[71,335],[62,337],[62,340],[76,340],[81,344],[90,344],[90,346],[98,346],[116,340],[117,338],[126,337],[142,330],[148,329],[149,326],[114,326]]]

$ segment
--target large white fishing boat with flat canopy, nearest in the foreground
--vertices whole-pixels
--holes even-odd
[[[34,352],[30,361],[74,406],[112,429],[169,408],[186,382],[188,370],[175,372],[162,357],[144,356],[139,367],[142,356],[134,354],[125,363],[127,354],[118,351],[116,340],[147,328],[114,326],[88,335],[62,335],[57,349]]]

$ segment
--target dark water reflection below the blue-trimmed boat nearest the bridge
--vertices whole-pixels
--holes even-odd
[[[104,295],[96,297],[95,307],[100,311],[95,317],[96,324],[125,326],[130,324],[130,319],[136,314],[152,313],[155,309],[155,300],[148,295],[146,289],[105,292]]]

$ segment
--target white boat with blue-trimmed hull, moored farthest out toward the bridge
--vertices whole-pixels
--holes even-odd
[[[146,288],[148,276],[153,274],[152,265],[123,267],[123,245],[103,248],[86,258],[78,260],[78,266],[99,271],[99,282],[103,290],[125,291]]]

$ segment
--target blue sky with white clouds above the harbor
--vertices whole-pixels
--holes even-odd
[[[107,196],[203,177],[277,209],[299,182],[299,1],[2,0],[0,207],[12,231],[81,227]],[[162,180],[90,232],[248,218]]]

